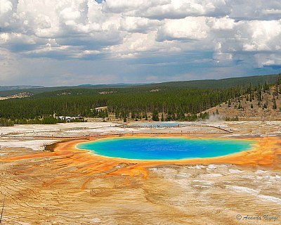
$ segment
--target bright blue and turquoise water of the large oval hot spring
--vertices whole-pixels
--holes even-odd
[[[125,137],[79,143],[77,148],[112,158],[135,160],[181,160],[213,158],[249,150],[255,141]]]

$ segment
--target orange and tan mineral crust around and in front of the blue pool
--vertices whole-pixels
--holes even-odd
[[[237,215],[280,216],[277,137],[244,139],[256,141],[251,150],[192,160],[108,158],[76,147],[115,137],[122,135],[67,139],[49,152],[1,148],[2,224],[236,225]]]

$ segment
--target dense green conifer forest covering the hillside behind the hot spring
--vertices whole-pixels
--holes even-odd
[[[231,82],[233,84],[230,85]],[[201,86],[197,86],[199,84]],[[251,100],[255,93],[263,96],[263,93],[270,90],[270,84],[275,85],[276,96],[281,94],[281,75],[198,83],[168,82],[122,88],[115,86],[107,89],[63,89],[34,94],[28,98],[0,101],[0,119],[2,124],[51,123],[56,122],[55,119],[59,116],[103,117],[107,120],[110,114],[124,121],[127,118],[135,120],[150,115],[152,120],[159,120],[161,117],[161,120],[166,121],[191,121],[197,120],[197,113],[221,103],[229,103],[240,96],[249,95]],[[100,107],[104,109],[97,110]]]

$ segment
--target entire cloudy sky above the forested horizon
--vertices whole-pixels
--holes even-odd
[[[281,71],[280,0],[0,1],[0,86]]]

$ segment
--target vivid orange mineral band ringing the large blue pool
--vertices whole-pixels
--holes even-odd
[[[132,136],[132,135],[122,135]],[[148,136],[147,134],[134,134],[136,136]],[[175,136],[166,135],[150,135],[150,136]],[[75,168],[86,176],[91,174],[101,175],[129,175],[135,176],[142,174],[143,177],[148,176],[148,167],[156,167],[159,165],[188,165],[188,164],[233,164],[245,165],[250,167],[270,166],[275,169],[280,167],[281,140],[276,137],[263,138],[247,138],[244,140],[257,141],[251,150],[245,150],[240,153],[226,155],[216,158],[196,158],[184,160],[128,160],[122,158],[109,158],[102,155],[96,155],[91,150],[82,150],[76,148],[78,143],[84,141],[95,141],[100,138],[116,138],[117,136],[93,136],[89,139],[70,140],[60,142],[55,145],[53,153],[37,153],[33,155],[23,155],[13,158],[3,158],[2,161],[28,160],[36,158],[55,158],[58,168]],[[178,136],[179,137],[179,136]],[[208,139],[216,138],[216,136],[180,136],[186,139]],[[219,138],[219,137],[218,137]],[[90,178],[91,179],[91,178]],[[84,184],[82,188],[85,186]]]

